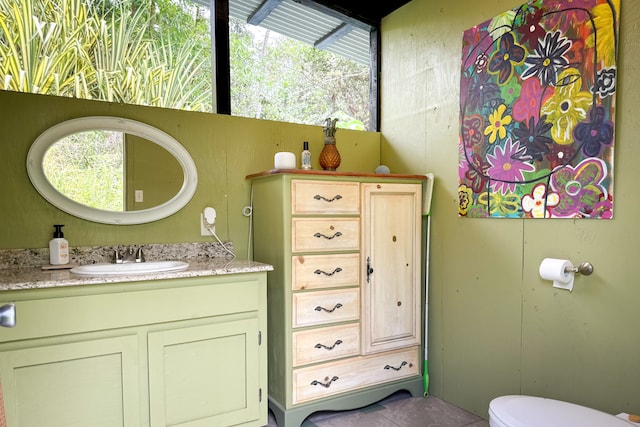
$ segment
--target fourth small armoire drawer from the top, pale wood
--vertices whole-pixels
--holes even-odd
[[[292,327],[347,322],[360,318],[360,288],[293,294]]]

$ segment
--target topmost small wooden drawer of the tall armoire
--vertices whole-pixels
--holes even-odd
[[[360,184],[291,180],[291,213],[354,214],[360,212]]]

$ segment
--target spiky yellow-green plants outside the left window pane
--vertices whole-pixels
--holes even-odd
[[[197,25],[167,33],[150,25],[159,1],[136,3],[0,0],[0,87],[211,111],[210,49],[187,36]]]

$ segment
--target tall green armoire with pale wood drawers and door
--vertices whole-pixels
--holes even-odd
[[[423,395],[425,177],[270,171],[252,183],[268,273],[269,406],[279,427],[398,390]]]

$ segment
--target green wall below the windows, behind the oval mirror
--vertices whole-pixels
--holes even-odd
[[[148,224],[108,225],[75,218],[42,198],[31,185],[26,158],[31,143],[49,127],[75,117],[106,115],[138,120],[168,133],[191,154],[198,169],[198,187],[191,201],[174,215]],[[216,233],[232,241],[239,258],[248,256],[249,218],[242,208],[250,203],[245,176],[273,168],[278,151],[299,158],[309,141],[312,166],[324,143],[322,123],[297,125],[210,113],[121,105],[54,96],[0,91],[0,248],[45,248],[53,224],[65,224],[71,246],[143,245],[204,242],[200,212],[217,210]],[[380,134],[339,129],[342,162],[338,171],[374,171],[380,164]],[[213,240],[212,240],[213,241]]]

